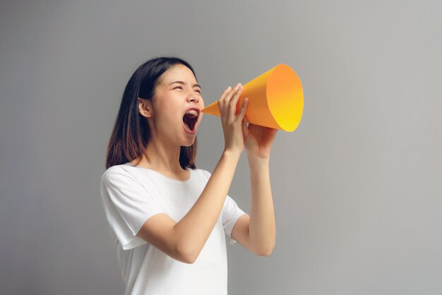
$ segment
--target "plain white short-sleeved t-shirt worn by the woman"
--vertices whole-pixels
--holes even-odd
[[[246,214],[227,195],[220,217],[195,263],[182,263],[136,236],[147,219],[167,213],[175,222],[199,198],[210,172],[189,169],[189,180],[179,181],[131,162],[104,171],[101,197],[114,239],[125,295],[227,294],[227,252],[235,222]]]

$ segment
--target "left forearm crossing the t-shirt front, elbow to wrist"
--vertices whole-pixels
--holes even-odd
[[[220,217],[232,183],[239,155],[223,152],[203,193],[191,210],[174,226],[181,251],[196,259]]]

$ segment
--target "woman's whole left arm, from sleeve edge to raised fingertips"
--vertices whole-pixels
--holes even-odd
[[[165,213],[155,215],[138,231],[137,236],[181,262],[193,263],[198,258],[220,217],[239,156],[244,149],[242,124],[247,99],[239,114],[235,114],[241,91],[240,84],[234,89],[227,88],[218,100],[225,148],[203,193],[191,210],[179,222]]]

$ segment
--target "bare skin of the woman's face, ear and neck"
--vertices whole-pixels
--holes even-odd
[[[192,71],[178,64],[162,74],[152,100],[138,98],[138,110],[148,120],[151,132],[146,148],[150,162],[143,157],[138,166],[154,169],[175,179],[189,179],[190,171],[182,169],[179,164],[179,150],[181,145],[193,145],[196,137],[184,131],[184,113],[190,107],[204,107],[201,88],[194,86],[196,84]],[[198,128],[202,118],[201,113],[195,128]]]

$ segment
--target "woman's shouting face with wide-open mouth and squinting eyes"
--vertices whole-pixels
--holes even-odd
[[[153,138],[193,145],[204,107],[201,87],[190,68],[176,64],[160,76],[148,117]]]

